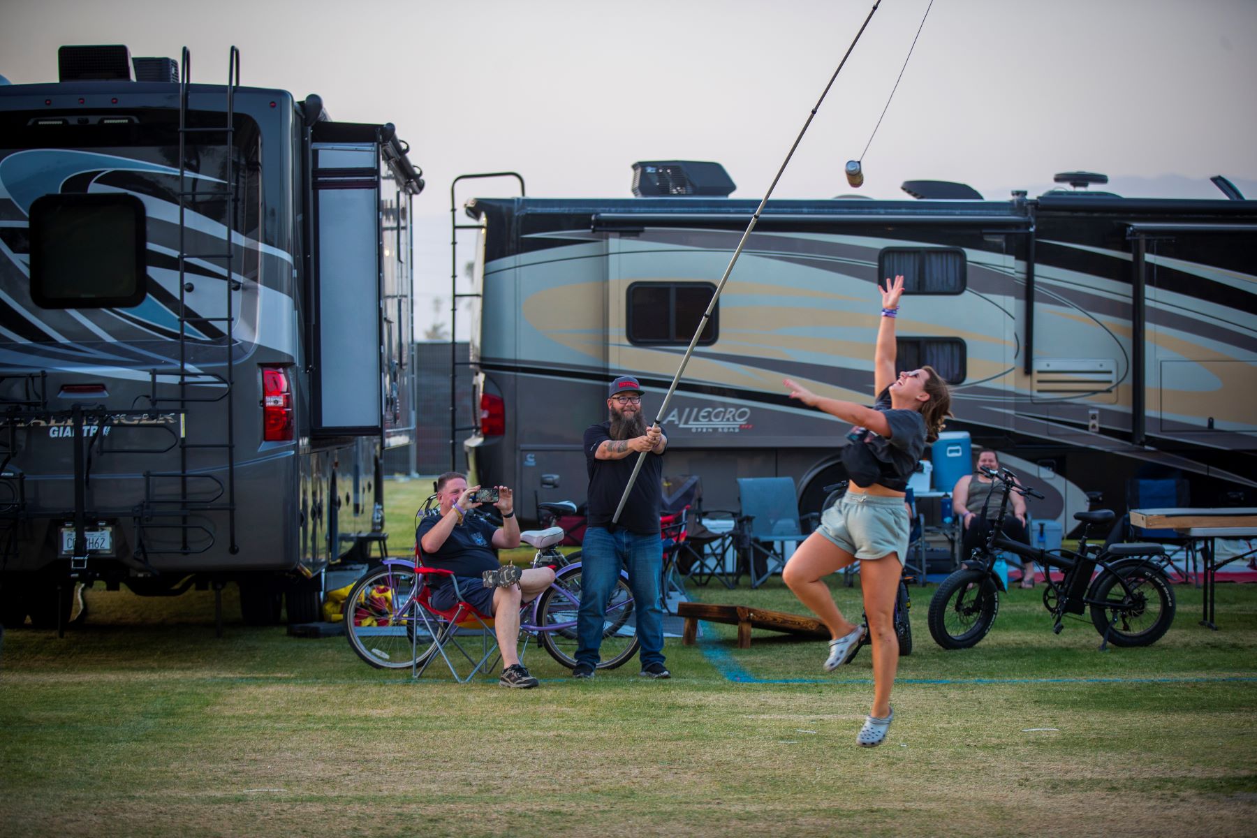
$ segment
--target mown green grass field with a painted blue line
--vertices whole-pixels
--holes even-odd
[[[799,611],[779,583],[693,593]],[[867,650],[823,675],[823,643],[704,626],[667,641],[670,681],[636,662],[573,681],[529,648],[542,686],[508,691],[387,675],[234,602],[217,639],[207,593],[96,588],[65,638],[5,636],[0,834],[1252,834],[1257,585],[1219,588],[1218,632],[1177,587],[1161,641],[1109,652],[1090,622],[1053,636],[1040,590],[944,652],[931,593],[913,589],[895,724],[865,750]]]

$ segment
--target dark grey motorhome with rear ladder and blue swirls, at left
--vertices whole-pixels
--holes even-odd
[[[0,85],[6,626],[64,619],[75,580],[316,619],[378,540],[424,183],[392,124],[229,64],[62,48],[58,83]]]

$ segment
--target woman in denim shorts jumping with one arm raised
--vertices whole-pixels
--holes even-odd
[[[825,670],[832,671],[855,657],[865,629],[842,616],[822,579],[860,562],[860,587],[872,634],[874,678],[872,709],[856,736],[856,743],[865,748],[885,741],[895,715],[890,688],[899,665],[899,638],[892,621],[908,553],[910,524],[904,504],[908,477],[925,443],[938,438],[952,406],[947,382],[931,367],[895,376],[895,315],[904,278],[887,279],[886,288],[879,290],[881,324],[874,352],[877,398],[872,407],[823,398],[786,379],[791,398],[855,425],[842,449],[842,464],[850,477],[847,491],[825,510],[820,529],[794,552],[782,578],[830,629],[833,639]]]

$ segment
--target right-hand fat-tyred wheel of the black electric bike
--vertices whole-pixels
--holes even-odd
[[[1174,589],[1160,570],[1148,564],[1119,564],[1105,570],[1091,584],[1087,599],[1091,622],[1114,646],[1151,646],[1174,622]]]

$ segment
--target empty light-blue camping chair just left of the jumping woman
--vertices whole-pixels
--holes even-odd
[[[798,496],[793,477],[739,477],[742,515],[738,518],[738,544],[743,549],[750,587],[758,588],[768,577],[786,567],[786,545],[807,539],[798,516]],[[813,523],[817,515],[808,515]]]

